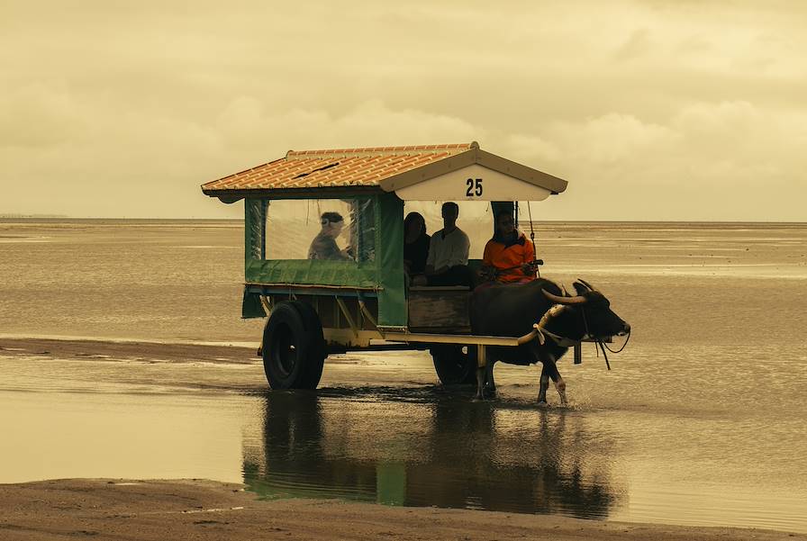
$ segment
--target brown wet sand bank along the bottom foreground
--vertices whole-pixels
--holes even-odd
[[[94,539],[803,540],[759,529],[679,527],[340,500],[258,500],[211,481],[58,480],[0,485],[0,537]]]

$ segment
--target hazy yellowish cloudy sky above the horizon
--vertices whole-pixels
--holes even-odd
[[[238,218],[289,149],[476,140],[536,219],[807,221],[807,4],[0,3],[0,213]]]

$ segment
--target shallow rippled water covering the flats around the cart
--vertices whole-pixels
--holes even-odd
[[[0,334],[257,341],[241,233],[0,221]],[[0,482],[207,477],[267,498],[807,532],[807,226],[538,238],[543,275],[590,278],[634,329],[611,372],[593,348],[561,362],[569,408],[536,406],[536,367],[498,366],[499,398],[471,401],[418,352],[334,356],[318,392],[269,393],[257,360],[0,351]]]

